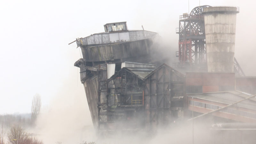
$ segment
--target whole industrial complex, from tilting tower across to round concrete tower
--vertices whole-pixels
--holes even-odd
[[[191,111],[255,123],[256,79],[245,77],[234,58],[238,12],[204,5],[180,16],[174,68],[168,58],[154,57],[157,33],[128,30],[126,22],[77,39],[83,58],[75,66],[99,134],[154,131],[191,118]]]

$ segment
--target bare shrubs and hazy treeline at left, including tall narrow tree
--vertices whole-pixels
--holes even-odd
[[[34,126],[40,110],[41,97],[36,94],[32,100],[31,114],[0,115],[0,144],[43,144],[42,141],[21,128]]]

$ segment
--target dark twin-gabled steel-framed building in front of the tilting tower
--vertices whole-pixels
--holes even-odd
[[[140,73],[145,71],[140,70]],[[154,130],[183,118],[185,76],[163,64],[145,78],[122,68],[106,79],[98,71],[98,130]],[[175,101],[175,102],[174,102]],[[138,127],[140,125],[140,127]]]

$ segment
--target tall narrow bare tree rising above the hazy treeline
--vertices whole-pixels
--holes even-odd
[[[34,95],[31,106],[31,119],[35,122],[38,114],[41,110],[41,96],[39,94]]]

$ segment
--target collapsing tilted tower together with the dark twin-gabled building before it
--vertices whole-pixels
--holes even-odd
[[[172,117],[171,111],[182,113],[183,106],[173,107],[171,102],[183,102],[185,76],[165,64],[158,68],[143,64],[154,60],[150,50],[158,34],[129,31],[126,22],[104,27],[105,33],[77,41],[83,59],[75,63],[80,67],[95,128],[149,128],[152,121],[158,123],[157,113],[163,115],[161,120],[165,123]]]

